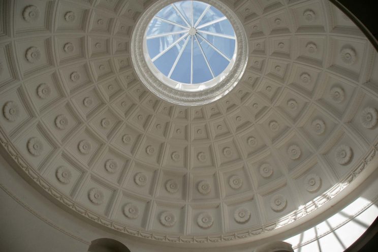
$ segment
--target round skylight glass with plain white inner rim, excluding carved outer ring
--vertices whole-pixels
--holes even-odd
[[[230,72],[237,41],[233,26],[218,9],[199,1],[180,1],[155,14],[143,49],[147,65],[164,84],[200,91]]]

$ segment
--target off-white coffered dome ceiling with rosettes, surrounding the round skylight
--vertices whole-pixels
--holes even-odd
[[[133,30],[156,1],[0,3],[6,156],[90,222],[166,242],[258,238],[322,211],[375,154],[376,52],[326,0],[222,1],[248,61],[203,106],[157,98],[134,71]]]

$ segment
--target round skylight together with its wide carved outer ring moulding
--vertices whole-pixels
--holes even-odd
[[[131,43],[136,73],[150,91],[172,103],[218,100],[246,68],[244,27],[221,1],[172,2],[156,1],[138,20]]]

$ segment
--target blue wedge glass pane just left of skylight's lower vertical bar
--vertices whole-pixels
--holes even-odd
[[[181,83],[191,83],[191,58],[192,58],[192,37],[189,38],[180,59],[177,62],[171,79]]]

